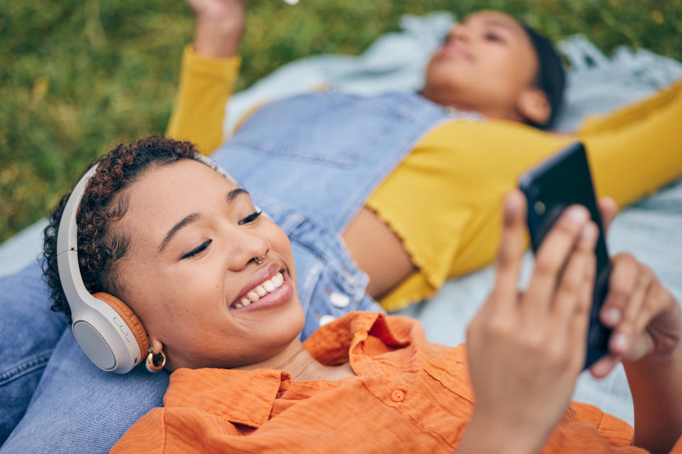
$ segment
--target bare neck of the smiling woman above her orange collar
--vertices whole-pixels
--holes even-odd
[[[344,367],[345,366],[345,367]],[[339,380],[353,375],[350,365],[342,367],[326,366],[315,360],[303,343],[296,338],[281,353],[273,358],[256,362],[247,366],[237,367],[242,370],[276,369],[291,375],[295,382],[309,380]]]

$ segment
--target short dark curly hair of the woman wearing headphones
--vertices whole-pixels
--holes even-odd
[[[125,189],[153,166],[168,165],[181,159],[196,159],[195,146],[168,138],[151,136],[130,145],[118,145],[92,162],[99,164],[88,182],[77,214],[78,264],[85,287],[90,293],[120,294],[117,286],[117,260],[124,257],[130,237],[111,228],[111,223],[126,214],[129,196]],[[69,194],[55,206],[43,231],[43,274],[51,289],[51,309],[71,319],[57,268],[57,233]]]

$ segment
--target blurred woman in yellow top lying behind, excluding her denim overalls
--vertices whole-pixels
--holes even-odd
[[[222,141],[224,105],[237,79],[244,2],[188,3],[197,14],[197,31],[183,56],[168,135],[191,140],[209,154]],[[521,172],[567,143],[585,143],[597,192],[621,206],[682,175],[676,128],[682,118],[680,83],[593,119],[575,135],[529,126],[551,122],[563,90],[563,74],[550,87],[537,83],[540,71],[556,72],[558,64],[556,55],[538,48],[538,39],[545,43],[513,18],[482,11],[453,26],[433,55],[423,96],[475,111],[487,121],[453,120],[435,127],[343,233],[354,260],[369,275],[367,292],[384,308],[419,301],[448,277],[492,262],[502,194],[516,186]]]

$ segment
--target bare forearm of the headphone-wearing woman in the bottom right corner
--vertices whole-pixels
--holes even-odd
[[[682,344],[624,366],[634,402],[634,444],[668,453],[682,436]]]

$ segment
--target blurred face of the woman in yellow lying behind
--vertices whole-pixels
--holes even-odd
[[[450,30],[426,70],[423,94],[490,118],[524,121],[519,103],[533,90],[538,60],[521,25],[497,11],[467,16]]]

